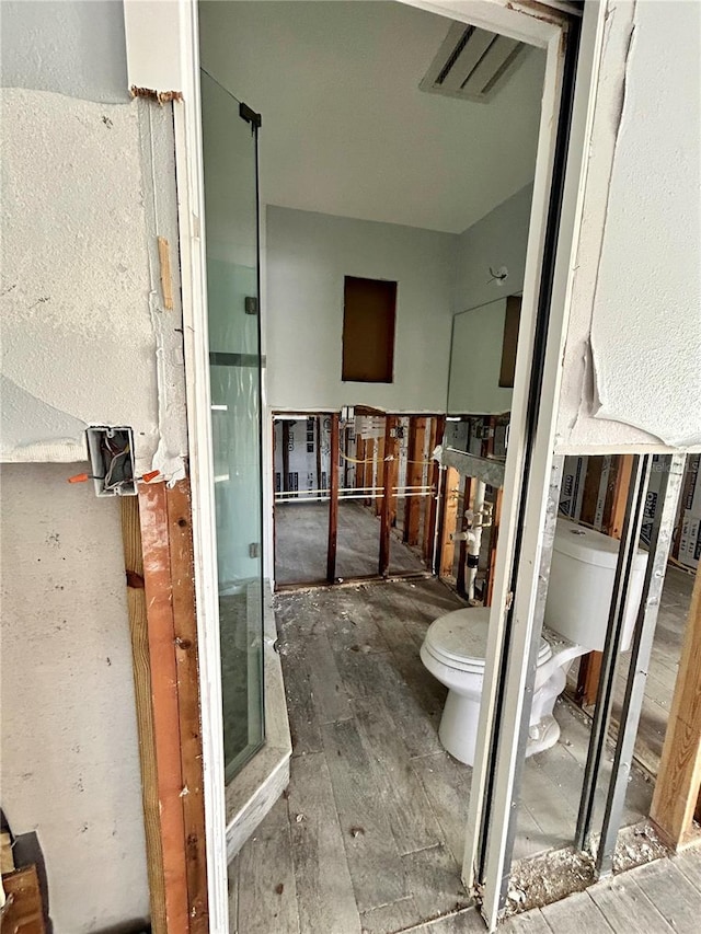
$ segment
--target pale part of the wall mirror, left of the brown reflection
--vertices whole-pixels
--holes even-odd
[[[451,415],[510,412],[513,392],[499,387],[505,319],[505,298],[456,314],[448,384]]]

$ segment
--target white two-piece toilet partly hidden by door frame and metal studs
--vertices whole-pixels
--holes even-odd
[[[572,661],[604,648],[618,550],[616,539],[558,520],[526,756],[558,741],[552,711]],[[633,637],[646,564],[647,554],[639,549],[625,603],[623,650]],[[421,648],[428,671],[448,688],[440,741],[468,765],[474,763],[489,620],[486,608],[455,610],[430,624]]]

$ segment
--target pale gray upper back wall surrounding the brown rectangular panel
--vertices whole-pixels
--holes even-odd
[[[285,410],[446,405],[456,238],[268,206],[268,404]],[[342,382],[344,276],[397,281],[394,380]]]

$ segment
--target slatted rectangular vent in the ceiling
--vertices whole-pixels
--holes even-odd
[[[517,39],[453,23],[418,87],[433,94],[486,102],[524,59],[525,48]]]

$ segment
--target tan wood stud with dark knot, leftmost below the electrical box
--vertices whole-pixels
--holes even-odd
[[[158,768],[151,705],[151,667],[149,634],[143,590],[143,557],[139,500],[136,496],[122,497],[122,541],[127,578],[127,608],[131,635],[134,665],[134,692],[141,762],[141,799],[146,832],[146,866],[149,878],[151,930],[166,934],[165,877],[163,875],[163,846],[159,816]]]

